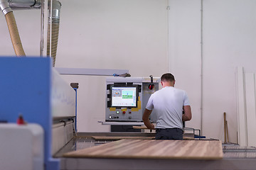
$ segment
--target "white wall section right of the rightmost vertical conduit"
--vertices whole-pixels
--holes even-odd
[[[218,127],[214,136],[223,137],[222,113],[226,112],[232,142],[237,140],[235,69],[245,66],[255,72],[254,6],[253,0],[204,1],[203,4],[203,127],[207,134],[213,131],[214,125]]]

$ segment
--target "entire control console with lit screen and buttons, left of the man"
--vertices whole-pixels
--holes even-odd
[[[142,115],[149,97],[159,89],[159,79],[152,81],[141,77],[110,77],[106,79],[106,86],[105,120],[142,122]],[[154,111],[150,119],[152,122],[156,121]]]

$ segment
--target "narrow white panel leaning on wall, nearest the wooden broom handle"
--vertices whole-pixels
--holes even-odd
[[[247,126],[245,115],[245,81],[242,67],[237,68],[237,96],[238,96],[238,143],[247,146]]]

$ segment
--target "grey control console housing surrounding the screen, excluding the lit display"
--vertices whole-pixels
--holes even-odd
[[[106,122],[142,122],[142,115],[146,108],[146,103],[151,94],[159,90],[159,78],[154,78],[151,83],[150,78],[144,77],[108,77],[106,79]],[[139,86],[139,98],[137,108],[129,107],[111,107],[110,102],[110,85],[132,84]],[[149,84],[154,84],[153,89],[149,89]],[[151,113],[150,120],[155,123],[156,115],[154,111]]]

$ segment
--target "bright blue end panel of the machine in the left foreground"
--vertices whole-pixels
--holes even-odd
[[[22,114],[43,127],[46,170],[60,169],[60,160],[51,155],[51,65],[49,57],[0,57],[0,122],[16,123]]]

